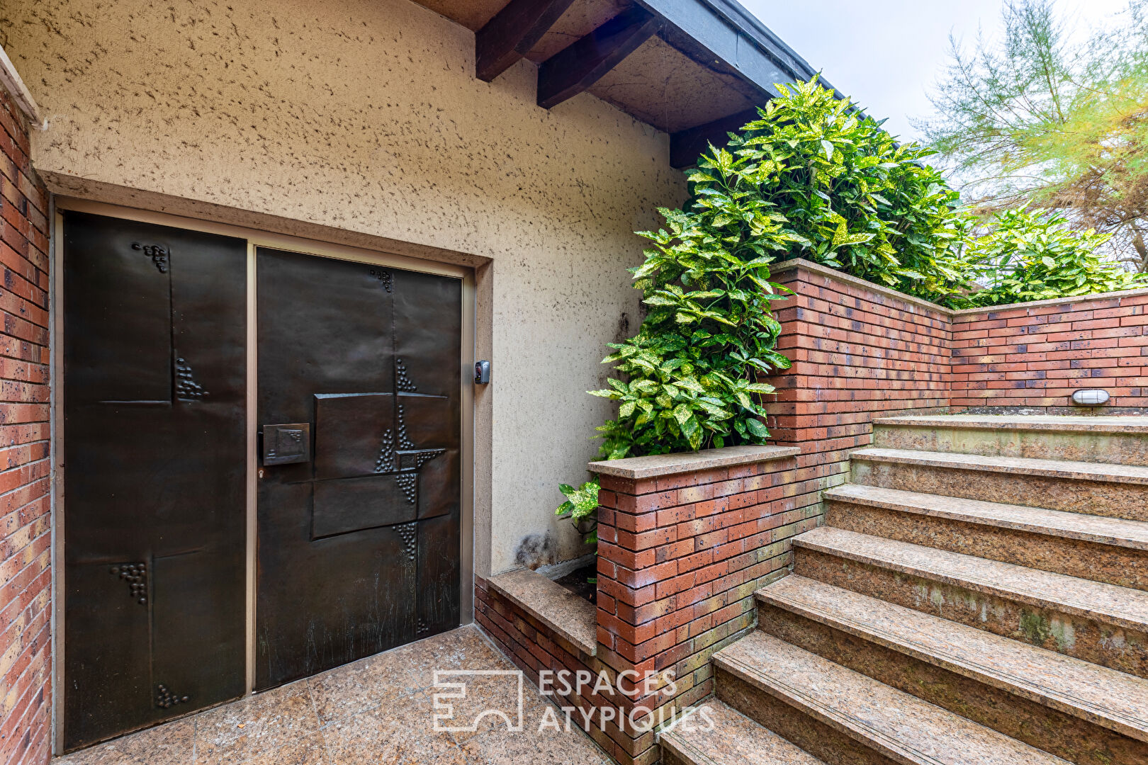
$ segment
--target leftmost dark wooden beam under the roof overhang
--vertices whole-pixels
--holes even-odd
[[[475,73],[489,83],[530,52],[574,0],[510,0],[474,36]]]

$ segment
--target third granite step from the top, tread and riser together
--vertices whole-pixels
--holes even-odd
[[[866,484],[823,493],[830,526],[1148,590],[1148,523]]]

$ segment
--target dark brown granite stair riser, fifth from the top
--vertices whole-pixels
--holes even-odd
[[[769,603],[767,633],[1080,765],[1146,765],[1148,744]]]

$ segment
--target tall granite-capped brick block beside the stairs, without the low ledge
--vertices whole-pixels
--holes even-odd
[[[653,731],[713,693],[709,657],[755,626],[754,591],[789,564],[786,539],[816,524],[791,513],[799,451],[590,463],[602,481],[597,658],[618,673],[665,673],[627,702],[623,765],[657,762]]]

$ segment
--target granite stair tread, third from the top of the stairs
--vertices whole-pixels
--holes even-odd
[[[825,490],[823,498],[852,504],[903,510],[1018,529],[1035,533],[1081,539],[1134,549],[1148,549],[1148,522],[1086,515],[1066,510],[1049,510],[1023,505],[986,502],[943,494],[925,494],[902,489],[884,489],[866,484],[844,484]]]

